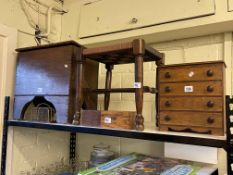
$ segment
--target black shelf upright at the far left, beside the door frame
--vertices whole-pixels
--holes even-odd
[[[9,118],[9,105],[10,97],[5,97],[4,104],[4,118],[3,118],[3,131],[2,131],[2,155],[1,155],[1,175],[6,174],[6,157],[7,157],[7,133],[8,133],[8,118]]]

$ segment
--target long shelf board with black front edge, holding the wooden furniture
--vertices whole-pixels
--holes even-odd
[[[57,131],[133,138],[133,139],[142,139],[142,140],[183,143],[183,144],[209,146],[209,147],[217,147],[224,149],[227,147],[225,136],[164,132],[164,131],[158,131],[156,129],[150,129],[144,131],[117,130],[117,129],[77,126],[71,124],[42,123],[42,122],[30,122],[30,121],[18,121],[18,120],[8,120],[7,125],[26,127],[26,128],[49,129],[49,130],[57,130]]]

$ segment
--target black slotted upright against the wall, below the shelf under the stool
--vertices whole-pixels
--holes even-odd
[[[76,168],[76,133],[71,132],[70,133],[70,165],[72,166],[73,171],[75,171]]]

